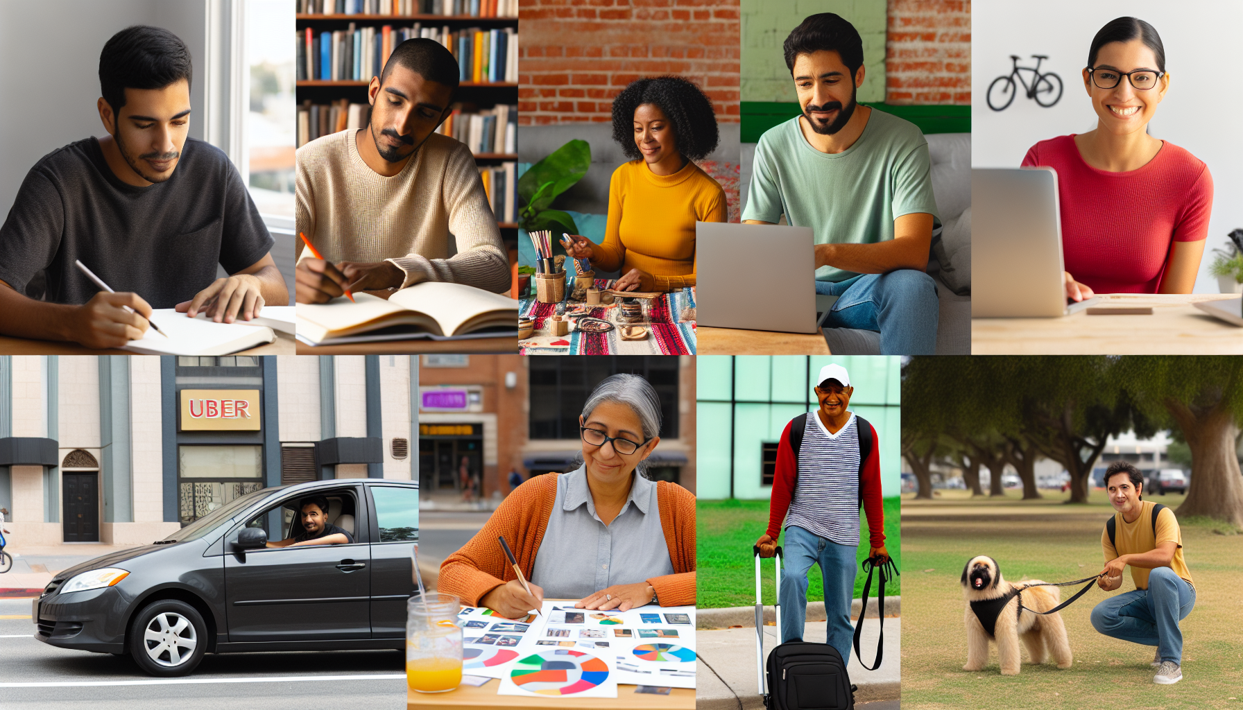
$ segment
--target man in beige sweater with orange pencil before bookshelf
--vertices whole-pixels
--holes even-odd
[[[297,302],[451,281],[502,292],[510,264],[466,145],[435,129],[459,67],[434,40],[398,45],[368,88],[370,121],[297,152]]]

